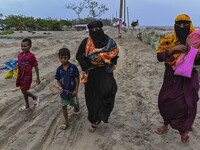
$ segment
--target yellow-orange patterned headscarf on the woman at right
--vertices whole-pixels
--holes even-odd
[[[186,15],[186,14],[178,15],[175,19],[175,23],[179,22],[179,21],[188,21],[190,23],[189,33],[195,31],[193,24],[192,24],[192,21],[191,21],[191,19],[188,15]],[[157,53],[169,50],[176,45],[181,45],[181,42],[179,41],[179,38],[177,36],[177,33],[175,31],[175,27],[174,27],[174,34],[173,35],[166,35],[161,39],[160,45],[158,46],[158,49],[157,49]],[[181,52],[175,52],[172,56],[172,61],[166,62],[166,63],[170,64],[171,66],[174,65],[176,63],[176,60],[178,59],[180,53]]]

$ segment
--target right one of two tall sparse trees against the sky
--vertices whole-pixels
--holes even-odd
[[[106,7],[106,5],[102,4],[99,6],[98,2],[92,1],[92,0],[84,0],[86,3],[85,7],[89,8],[89,15],[88,17],[96,18],[100,17],[103,13],[108,11],[109,9]]]

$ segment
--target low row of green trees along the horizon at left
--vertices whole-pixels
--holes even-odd
[[[94,18],[88,17],[85,19],[72,19],[72,20],[57,20],[52,18],[41,19],[34,17],[26,17],[23,15],[9,15],[5,19],[2,19],[3,14],[0,13],[0,26],[5,26],[7,29],[23,27],[25,30],[49,30],[49,31],[61,31],[66,26],[71,28],[75,24],[88,24],[95,20]],[[99,19],[104,25],[111,25],[110,19]]]

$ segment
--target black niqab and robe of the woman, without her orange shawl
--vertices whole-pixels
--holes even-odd
[[[88,24],[89,35],[95,48],[103,48],[109,41],[109,37],[104,34],[101,21],[93,21]],[[105,65],[95,65],[85,56],[88,38],[84,39],[76,54],[82,71],[90,70],[85,85],[85,100],[88,110],[88,120],[91,123],[90,132],[94,132],[101,121],[108,123],[109,116],[114,107],[117,84],[113,72],[106,72]]]

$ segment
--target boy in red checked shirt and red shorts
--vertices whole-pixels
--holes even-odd
[[[19,111],[29,110],[28,97],[33,99],[34,105],[39,105],[39,96],[33,95],[28,90],[32,83],[32,69],[35,68],[36,72],[36,84],[40,84],[38,62],[35,55],[30,52],[32,42],[30,39],[24,39],[21,42],[21,49],[23,52],[18,55],[18,78],[16,81],[17,87],[19,86],[23,95],[26,105],[19,108]]]

